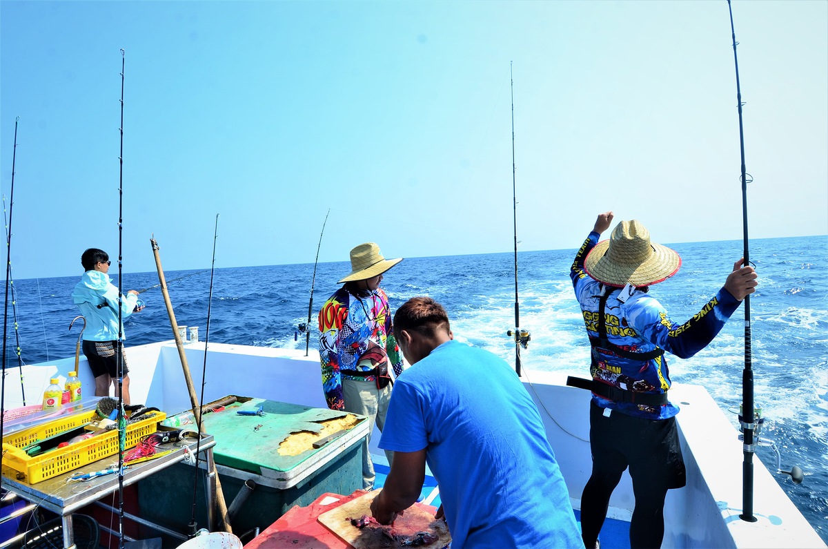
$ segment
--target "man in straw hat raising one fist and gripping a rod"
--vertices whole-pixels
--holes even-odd
[[[630,547],[661,547],[667,490],[686,483],[664,352],[689,358],[705,348],[753,294],[757,275],[739,259],[700,312],[675,323],[647,290],[675,275],[681,257],[651,242],[640,221],[621,221],[609,240],[599,242],[612,221],[612,211],[598,216],[570,270],[592,347],[592,379],[567,381],[592,391],[592,475],[581,496],[581,536],[585,547],[599,547],[609,497],[629,467],[635,495]]]

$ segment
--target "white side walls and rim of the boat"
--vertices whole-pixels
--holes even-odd
[[[205,344],[185,345],[185,355],[200,394]],[[168,414],[190,408],[175,343],[128,347],[127,356],[133,403],[156,406]],[[84,391],[92,391],[89,367],[82,356],[80,362]],[[39,401],[50,377],[60,377],[62,382],[73,369],[75,357],[24,367],[27,403]],[[306,357],[291,349],[210,343],[206,372],[205,402],[237,395],[325,407],[314,351]],[[13,378],[17,379],[17,372]],[[577,510],[590,475],[589,393],[566,386],[566,376],[560,373],[529,371],[523,380],[541,411]],[[662,547],[826,547],[759,459],[753,460],[753,511],[758,520],[741,520],[743,458],[737,430],[701,386],[676,384],[672,400],[681,406],[677,422],[687,486],[667,495]],[[20,385],[7,380],[6,409],[15,406],[22,406]],[[372,454],[382,453],[376,448],[378,438],[375,433]],[[625,474],[610,500],[609,517],[628,520],[633,503]]]

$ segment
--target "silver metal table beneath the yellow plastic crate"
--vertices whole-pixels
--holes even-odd
[[[195,454],[197,441],[191,442],[186,447]],[[213,435],[201,435],[201,442],[199,451],[213,448],[215,440]],[[177,448],[177,449],[176,449]],[[178,443],[177,445],[159,445],[158,449],[163,451],[165,449],[176,449],[171,454],[166,454],[160,458],[150,459],[139,464],[132,465],[130,469],[126,469],[123,474],[123,485],[137,483],[137,481],[144,479],[161,469],[166,469],[173,464],[183,461],[185,457],[185,447]],[[208,459],[212,459],[211,453],[208,454]],[[46,508],[53,513],[59,514],[63,519],[63,544],[65,549],[72,549],[75,547],[74,535],[72,532],[72,514],[80,508],[84,508],[90,503],[97,502],[112,493],[118,491],[118,474],[107,474],[102,477],[90,479],[88,481],[67,483],[67,479],[75,474],[92,473],[107,469],[112,464],[118,464],[117,456],[109,456],[108,458],[99,459],[91,464],[86,464],[73,471],[65,474],[60,474],[51,479],[46,479],[40,483],[29,484],[14,479],[2,477],[2,487],[6,488],[12,493],[16,493],[21,498],[35,503],[36,505]],[[214,479],[211,479],[214,480]]]

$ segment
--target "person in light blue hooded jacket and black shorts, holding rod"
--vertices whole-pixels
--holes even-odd
[[[121,341],[127,338],[123,332],[123,318],[133,312],[140,311],[137,307],[138,293],[131,289],[126,295],[120,296],[121,319],[118,323],[118,288],[109,280],[109,255],[98,248],[89,248],[80,256],[80,263],[84,266],[84,276],[72,290],[72,300],[86,319],[83,338],[84,356],[89,361],[89,367],[95,377],[95,396],[108,396],[109,387],[115,385],[115,396],[118,396],[118,333]],[[129,401],[129,368],[127,357],[123,357],[123,403]]]

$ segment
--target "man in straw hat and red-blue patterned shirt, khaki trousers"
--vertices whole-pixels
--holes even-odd
[[[363,442],[363,488],[372,489],[373,462],[368,444],[376,423],[385,425],[392,379],[402,373],[402,357],[392,334],[388,296],[379,288],[383,273],[402,261],[387,260],[373,242],[351,250],[351,274],[339,280],[342,288],[330,296],[319,312],[319,354],[322,388],[331,410],[368,417]],[[386,452],[388,464],[392,452]]]

